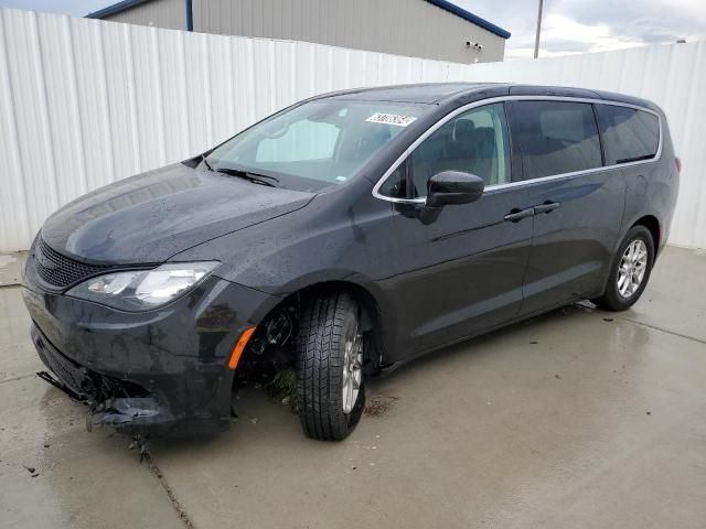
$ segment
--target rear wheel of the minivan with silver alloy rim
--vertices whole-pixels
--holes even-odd
[[[633,253],[630,253],[631,249]],[[643,256],[644,252],[646,255]],[[591,301],[606,311],[630,309],[644,292],[653,264],[654,241],[652,234],[644,226],[633,226],[625,235],[613,258],[606,292]],[[642,272],[641,277],[640,272]]]

